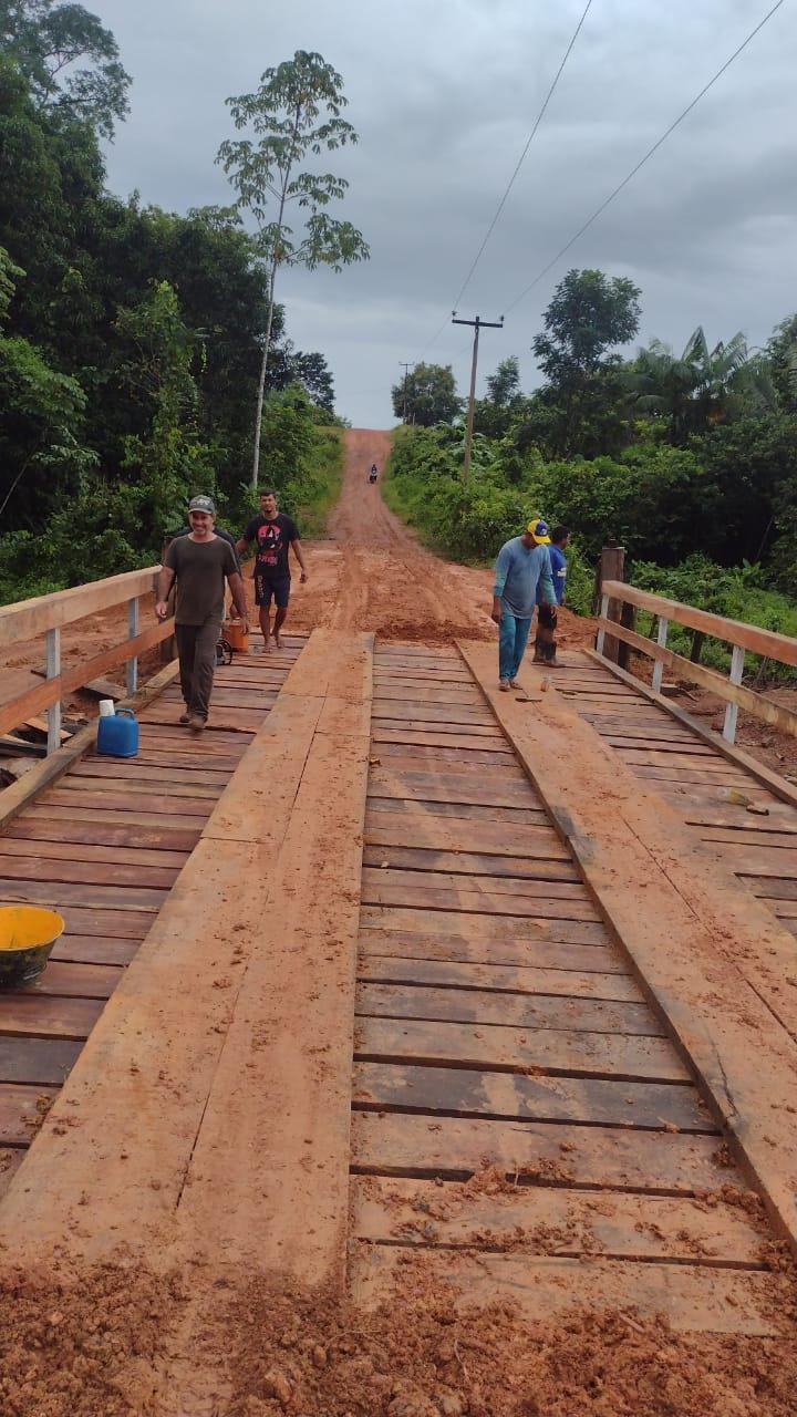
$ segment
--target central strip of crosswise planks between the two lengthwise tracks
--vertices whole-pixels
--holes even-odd
[[[642,710],[606,677],[584,689],[614,735]],[[454,649],[377,646],[370,752],[355,1298],[418,1265],[536,1316],[587,1294],[769,1332],[776,1281],[759,1221],[723,1200],[746,1187],[722,1125]],[[713,788],[705,757],[684,771]]]

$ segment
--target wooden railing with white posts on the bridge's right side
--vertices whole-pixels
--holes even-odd
[[[621,623],[623,615],[618,606],[630,605],[635,609],[650,611],[657,616],[657,640],[647,639],[628,625]],[[710,635],[732,646],[730,674],[726,679],[713,669],[706,669],[684,655],[667,648],[669,625],[685,625],[696,635]],[[664,595],[652,595],[650,591],[640,591],[635,585],[625,585],[624,581],[604,580],[601,584],[600,616],[597,621],[596,652],[604,655],[607,640],[621,640],[641,655],[654,660],[652,689],[661,693],[661,683],[665,666],[675,669],[682,679],[701,684],[710,690],[718,699],[723,699],[725,724],[723,738],[733,743],[736,738],[736,718],[739,708],[752,714],[763,723],[771,724],[781,733],[797,737],[797,714],[783,704],[773,703],[764,694],[747,689],[743,683],[745,652],[763,655],[781,665],[797,667],[797,639],[790,635],[779,635],[771,629],[760,629],[757,625],[746,625],[743,621],[726,619],[725,615],[713,615],[710,611],[699,611],[692,605],[682,605],[679,601],[669,601]]]

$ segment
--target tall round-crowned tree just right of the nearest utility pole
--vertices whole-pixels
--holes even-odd
[[[569,271],[545,312],[545,334],[533,351],[547,380],[552,452],[593,455],[621,436],[618,344],[640,324],[640,289],[627,276]]]

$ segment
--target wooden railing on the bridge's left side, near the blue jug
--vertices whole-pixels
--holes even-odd
[[[152,649],[174,633],[174,621],[166,619],[162,623],[139,629],[140,598],[155,589],[159,565],[149,565],[143,571],[123,571],[121,575],[111,575],[104,581],[91,581],[88,585],[75,585],[69,591],[54,591],[51,595],[37,595],[30,601],[17,601],[13,605],[0,608],[0,650],[20,642],[30,642],[40,635],[45,636],[45,674],[41,684],[17,694],[16,699],[0,703],[0,733],[17,728],[26,718],[47,710],[47,751],[52,752],[61,741],[61,700],[91,683],[99,674],[116,669],[119,665],[128,666],[128,693],[138,689],[139,655]],[[87,615],[96,615],[99,611],[111,609],[115,605],[128,605],[128,635],[111,645],[101,655],[94,655],[61,667],[61,629]]]

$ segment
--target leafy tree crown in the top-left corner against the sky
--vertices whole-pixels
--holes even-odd
[[[0,50],[13,55],[43,109],[87,119],[104,137],[129,111],[130,75],[116,40],[82,4],[0,0]],[[75,68],[81,60],[88,65]]]

